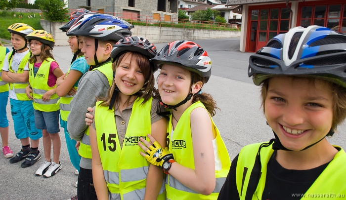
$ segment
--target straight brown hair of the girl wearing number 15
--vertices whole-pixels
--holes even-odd
[[[131,56],[131,62],[132,61],[136,62],[137,65],[139,66],[139,69],[143,73],[144,85],[141,90],[136,92],[136,95],[139,96],[140,98],[143,98],[144,99],[143,103],[145,103],[147,100],[149,100],[150,97],[153,96],[153,92],[154,92],[155,81],[154,81],[154,73],[152,70],[153,69],[152,63],[150,63],[148,57],[144,56],[143,54],[130,51],[130,52],[123,53],[117,57],[117,59],[112,65],[113,72],[115,72],[115,70],[119,67],[120,63],[128,56]],[[117,85],[115,84],[114,78],[113,78],[112,85],[108,89],[106,97],[98,98],[98,100],[103,101],[101,103],[102,106],[109,106],[112,95],[116,87]],[[130,101],[130,97],[125,103],[129,104],[130,103],[129,101]],[[113,108],[115,108],[115,110],[118,109],[119,102],[120,102],[120,98],[119,98],[119,95],[117,95],[113,105]],[[118,103],[118,107],[116,107],[117,103]]]

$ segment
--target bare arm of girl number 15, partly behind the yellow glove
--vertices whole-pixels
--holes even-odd
[[[166,147],[167,120],[162,118],[151,124],[151,135],[159,144]],[[150,164],[145,187],[144,200],[156,200],[164,178],[164,172],[160,167]]]

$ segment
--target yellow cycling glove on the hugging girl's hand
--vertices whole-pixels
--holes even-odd
[[[170,153],[168,147],[163,149],[157,141],[155,141],[153,145],[148,148],[149,149],[146,151],[147,155],[145,155],[145,159],[153,165],[162,168],[164,162],[174,159],[173,154]]]

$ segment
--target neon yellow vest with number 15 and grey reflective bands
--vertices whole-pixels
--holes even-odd
[[[96,102],[95,128],[97,147],[100,154],[103,174],[107,182],[110,200],[143,200],[149,162],[139,152],[139,138],[151,133],[152,98],[141,105],[143,99],[137,98],[132,106],[129,124],[120,148],[114,109],[100,106]],[[165,183],[162,183],[158,200],[165,200]]]

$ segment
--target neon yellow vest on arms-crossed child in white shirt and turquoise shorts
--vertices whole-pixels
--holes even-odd
[[[31,51],[29,51],[20,61],[20,64],[18,66],[17,74],[23,74],[24,72],[24,67],[28,64],[28,61],[30,59]],[[15,71],[12,70],[12,58],[10,58],[10,54],[8,55],[8,60],[9,60],[9,71],[16,73]],[[14,87],[14,92],[16,93],[17,99],[20,101],[31,101],[31,99],[28,98],[28,96],[25,93],[25,88],[28,86],[29,82],[14,82],[14,83],[9,83],[9,89],[12,90]]]

